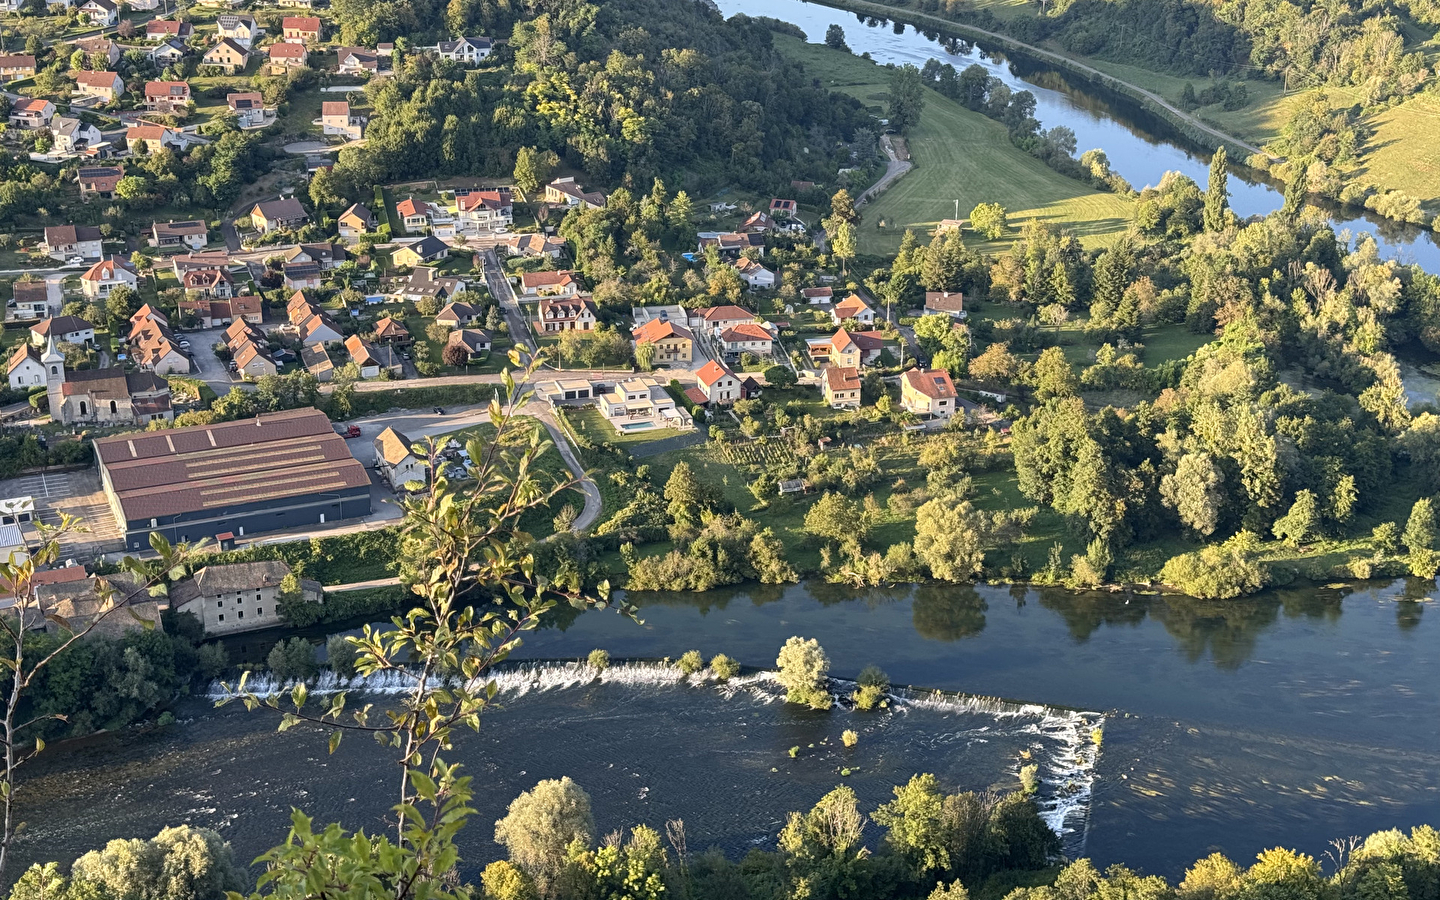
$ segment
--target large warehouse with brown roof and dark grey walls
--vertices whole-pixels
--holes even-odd
[[[370,514],[370,477],[318,409],[95,441],[128,550]]]

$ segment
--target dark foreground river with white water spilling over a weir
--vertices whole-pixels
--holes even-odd
[[[562,615],[518,657],[696,648],[763,668],[799,634],[819,639],[835,677],[874,662],[924,690],[883,713],[809,713],[779,703],[763,674],[719,688],[638,664],[595,683],[573,665],[530,662],[501,678],[505,710],[451,755],[481,789],[465,871],[494,858],[490,822],[504,805],[559,775],[592,792],[602,831],[683,816],[691,848],[732,854],[772,844],[788,811],[837,783],[867,808],[914,772],[1007,788],[1022,752],[1041,765],[1041,798],[1071,854],[1169,877],[1212,850],[1240,861],[1276,844],[1320,854],[1331,838],[1440,822],[1434,593],[1395,582],[1205,603],[809,582],[636,595],[644,625]],[[246,638],[251,652],[275,636]],[[929,698],[929,688],[1011,701]],[[248,860],[284,834],[291,805],[350,827],[382,822],[395,769],[370,742],[347,740],[331,757],[320,733],[275,734],[264,713],[196,698],[179,714],[176,726],[37,760],[22,792],[32,828],[20,855],[69,858],[189,821],[219,828]],[[1089,736],[1102,721],[1094,760]],[[844,729],[860,732],[857,747],[838,744]]]

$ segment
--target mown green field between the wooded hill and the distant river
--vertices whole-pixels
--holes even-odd
[[[888,72],[876,63],[780,35],[775,46],[804,62],[806,72],[829,88],[883,107]],[[1048,168],[1017,150],[999,122],[939,94],[926,94],[924,112],[909,144],[914,168],[864,209],[861,253],[894,253],[906,229],[923,238],[940,219],[955,215],[956,200],[962,217],[976,203],[995,202],[1009,212],[1015,226],[1041,217],[1070,229],[1086,246],[1107,245],[1129,226],[1130,200]],[[881,222],[884,229],[878,228]],[[1018,230],[982,249],[1001,251],[1014,233]]]

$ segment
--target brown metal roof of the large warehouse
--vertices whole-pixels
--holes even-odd
[[[95,441],[127,521],[369,487],[318,409]]]

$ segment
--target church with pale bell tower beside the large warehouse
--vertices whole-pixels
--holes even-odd
[[[45,366],[50,420],[62,425],[145,425],[174,418],[170,383],[148,372],[124,369],[65,370],[65,354],[50,338],[40,357]]]

